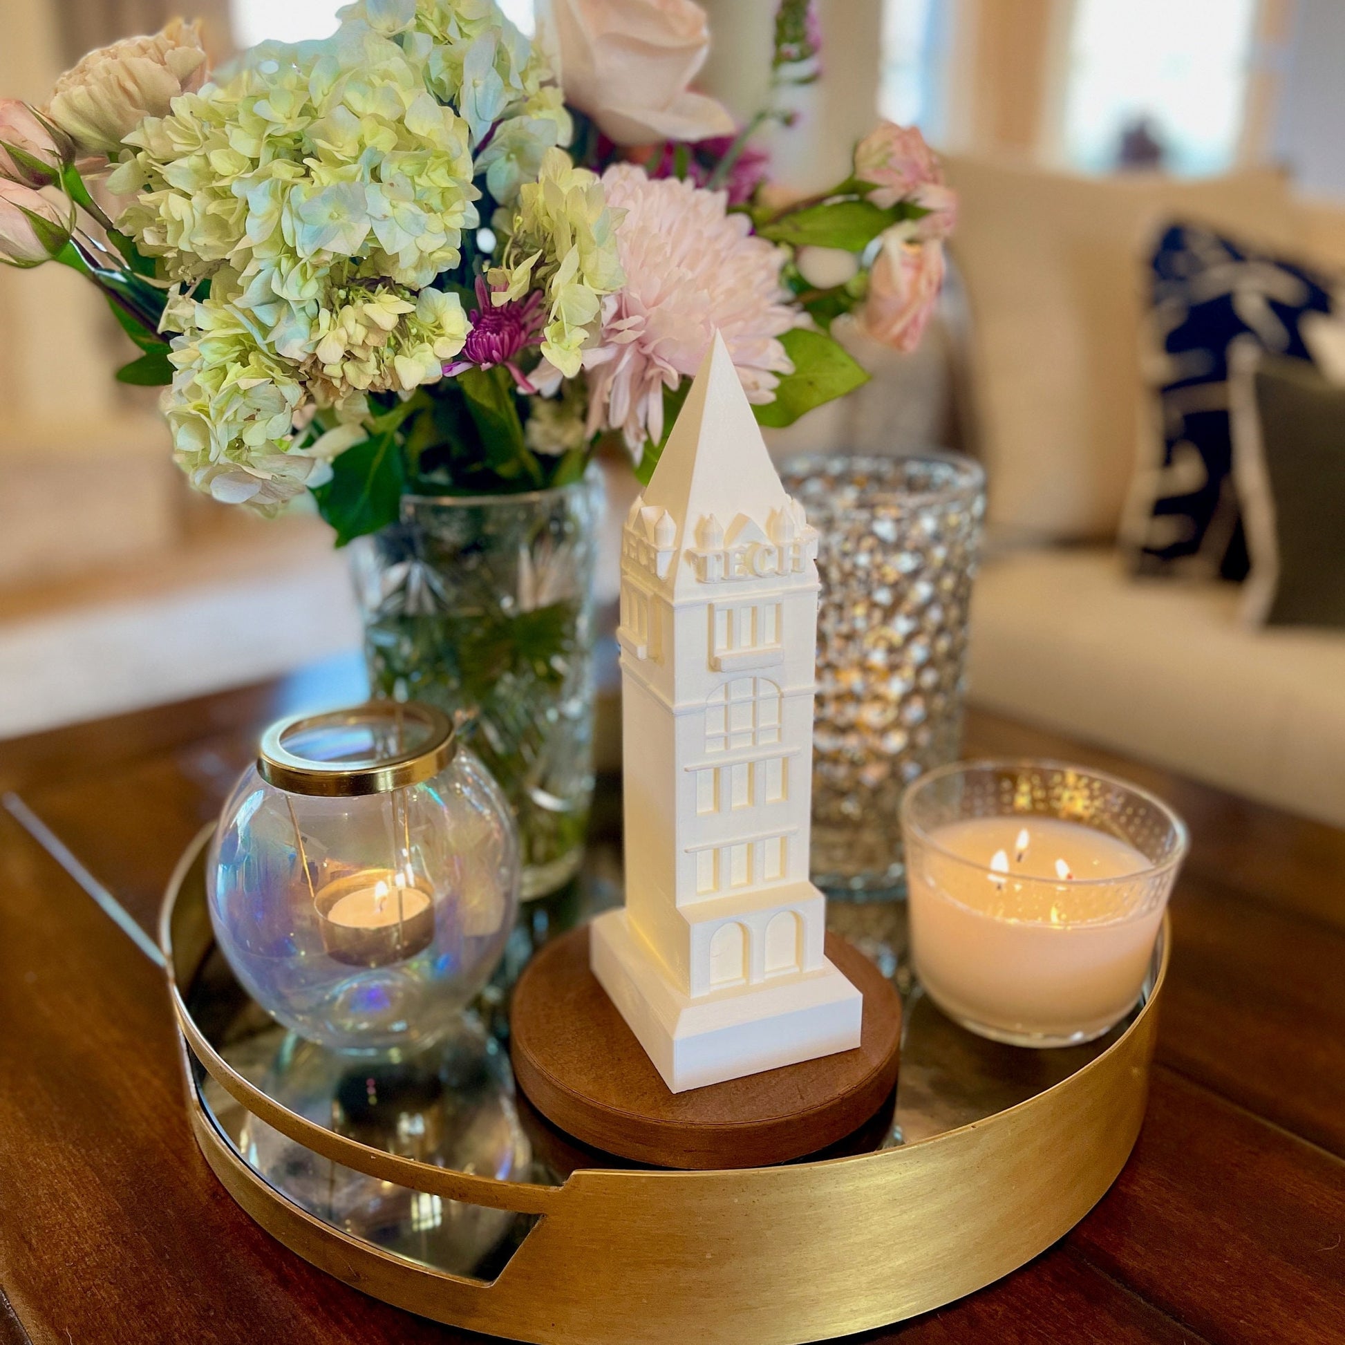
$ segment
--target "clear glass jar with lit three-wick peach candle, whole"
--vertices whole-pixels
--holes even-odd
[[[911,956],[962,1026],[1091,1041],[1135,1005],[1186,827],[1135,785],[1059,761],[931,771],[901,803]]]

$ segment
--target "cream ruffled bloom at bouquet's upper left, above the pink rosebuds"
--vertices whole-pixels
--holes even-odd
[[[47,116],[85,155],[114,156],[145,117],[165,117],[174,98],[206,82],[200,24],[171,20],[152,38],[90,51],[58,81]]]

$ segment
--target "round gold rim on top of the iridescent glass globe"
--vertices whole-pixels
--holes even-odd
[[[414,724],[422,732],[412,748],[363,761],[321,761],[286,746],[297,733],[311,729],[358,728],[383,721],[397,729],[397,741]],[[261,738],[257,772],[277,790],[317,798],[354,798],[387,794],[432,780],[457,751],[453,721],[433,705],[420,701],[366,701],[363,705],[320,714],[292,714],[273,724]]]

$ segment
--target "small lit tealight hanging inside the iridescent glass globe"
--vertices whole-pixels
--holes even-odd
[[[382,967],[412,958],[434,935],[429,894],[399,873],[351,874],[327,884],[315,897],[328,956],[359,967]]]

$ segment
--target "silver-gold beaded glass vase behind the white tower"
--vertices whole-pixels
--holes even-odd
[[[812,878],[905,892],[897,807],[962,740],[985,472],[958,453],[808,455],[784,484],[820,533]]]

